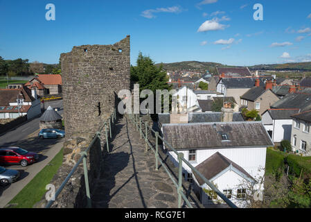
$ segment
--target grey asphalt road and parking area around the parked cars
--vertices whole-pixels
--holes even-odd
[[[62,100],[46,102],[44,108],[48,108],[48,105],[51,105],[52,108],[60,108],[58,113],[62,114]],[[38,162],[27,167],[20,165],[4,166],[7,169],[19,170],[21,177],[17,182],[7,187],[0,187],[1,208],[10,202],[55,157],[63,146],[64,139],[38,139],[37,133],[39,133],[39,117],[0,136],[0,146],[19,146],[27,151],[39,154]]]

